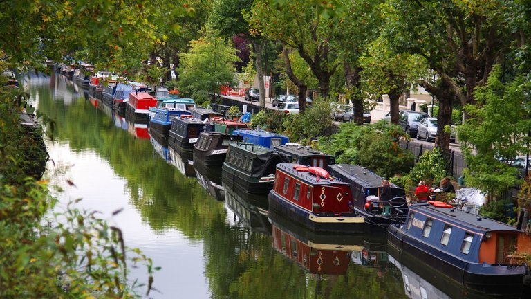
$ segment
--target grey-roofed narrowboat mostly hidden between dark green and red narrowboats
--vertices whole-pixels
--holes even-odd
[[[298,143],[286,143],[275,146],[277,152],[281,152],[290,158],[291,163],[326,168],[335,164],[335,157],[324,152],[319,152],[309,146],[301,146]]]

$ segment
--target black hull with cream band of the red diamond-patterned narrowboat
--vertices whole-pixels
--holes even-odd
[[[269,210],[315,232],[362,233],[364,231],[364,219],[355,213],[315,215],[309,210],[286,201],[274,190],[269,193]]]

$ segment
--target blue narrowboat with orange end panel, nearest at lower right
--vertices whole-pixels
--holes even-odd
[[[519,296],[524,280],[529,282],[527,266],[511,262],[521,235],[514,226],[429,201],[411,205],[405,224],[389,226],[387,243],[399,261],[429,264],[441,279],[492,295]]]

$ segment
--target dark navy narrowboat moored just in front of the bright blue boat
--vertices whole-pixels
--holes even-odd
[[[194,144],[196,144],[199,134],[204,129],[205,124],[197,118],[174,118],[171,121],[171,128],[169,129],[169,147],[172,147],[180,154],[183,152],[192,153],[194,151]]]

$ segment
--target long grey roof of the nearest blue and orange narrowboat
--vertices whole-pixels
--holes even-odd
[[[490,218],[486,218],[480,215],[471,214],[464,210],[454,208],[437,208],[429,203],[413,204],[409,207],[410,212],[422,212],[432,217],[440,219],[446,219],[450,222],[463,224],[473,230],[485,230],[485,231],[514,231],[518,232],[514,226],[504,224],[503,222],[496,221]]]

